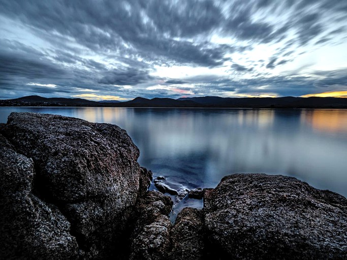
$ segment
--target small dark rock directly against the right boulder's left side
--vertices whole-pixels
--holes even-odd
[[[202,259],[204,250],[204,221],[202,210],[184,208],[176,218],[170,236],[171,259]]]

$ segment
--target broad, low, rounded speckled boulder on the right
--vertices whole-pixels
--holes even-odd
[[[224,177],[204,219],[207,257],[347,259],[347,200],[292,177]]]

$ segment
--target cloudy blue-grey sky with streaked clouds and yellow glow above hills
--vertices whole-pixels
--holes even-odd
[[[0,0],[0,99],[347,98],[346,0]]]

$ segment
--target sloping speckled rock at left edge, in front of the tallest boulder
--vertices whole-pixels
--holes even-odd
[[[0,258],[76,259],[70,223],[33,194],[34,162],[0,135]]]

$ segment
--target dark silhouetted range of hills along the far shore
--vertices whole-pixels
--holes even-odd
[[[38,95],[23,96],[19,99],[0,100],[0,106],[36,107],[177,107],[177,108],[344,108],[347,99],[342,98],[220,98],[201,96],[196,98],[154,98],[138,97],[131,101],[89,101],[84,99],[43,98]]]

